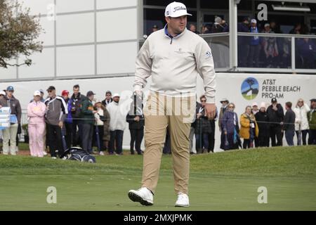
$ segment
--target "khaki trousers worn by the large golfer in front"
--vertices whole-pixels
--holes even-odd
[[[171,135],[173,179],[176,193],[188,192],[190,126],[195,115],[195,96],[169,97],[150,94],[144,108],[145,153],[142,186],[154,193],[159,178],[166,128]]]

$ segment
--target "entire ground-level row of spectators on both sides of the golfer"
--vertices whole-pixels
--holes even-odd
[[[13,86],[8,86],[0,92],[0,108],[11,108],[11,115],[16,117],[10,127],[2,131],[4,155],[16,155],[18,134],[21,133],[22,110],[20,102],[13,95],[14,91]],[[138,155],[142,155],[140,146],[145,121],[143,105],[141,109],[137,108],[135,99],[129,111],[123,113],[119,105],[120,95],[111,91],[106,91],[103,101],[96,99],[93,91],[81,94],[79,85],[73,86],[71,95],[70,91],[63,90],[58,96],[54,86],[49,86],[46,91],[47,98],[44,98],[42,89],[34,91],[27,105],[27,130],[32,156],[44,157],[48,147],[51,157],[57,158],[72,146],[80,146],[88,153],[93,153],[93,147],[96,147],[100,155],[105,155],[105,152],[122,155],[126,122],[131,135],[130,152],[135,154],[136,150]],[[284,108],[276,98],[272,98],[270,105],[252,103],[246,106],[242,115],[235,113],[236,105],[227,98],[220,103],[216,117],[209,120],[204,110],[206,96],[199,98],[195,122],[190,129],[190,153],[194,153],[194,138],[196,153],[213,153],[216,123],[220,131],[220,148],[223,150],[269,147],[270,143],[271,146],[283,146],[283,136],[288,146],[294,146],[295,135],[298,146],[316,144],[316,98],[310,100],[310,105],[300,98],[295,106],[287,102]],[[171,153],[168,128],[163,152]]]

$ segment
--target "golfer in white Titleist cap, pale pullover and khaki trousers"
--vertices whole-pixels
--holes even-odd
[[[207,98],[205,110],[215,116],[215,72],[209,45],[186,29],[187,9],[173,2],[166,6],[167,25],[150,34],[136,60],[134,91],[141,96],[146,79],[152,76],[150,95],[144,108],[145,153],[140,189],[129,191],[129,198],[142,205],[152,205],[159,177],[166,128],[171,135],[176,205],[188,207],[189,134],[195,115],[197,75],[204,79]]]

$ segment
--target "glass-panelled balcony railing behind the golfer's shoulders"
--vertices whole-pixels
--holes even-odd
[[[238,32],[237,67],[230,66],[229,32],[201,34],[211,46],[217,72],[316,74],[316,36]],[[140,47],[145,39],[140,40]]]

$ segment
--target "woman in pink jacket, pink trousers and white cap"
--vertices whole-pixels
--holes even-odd
[[[41,102],[41,93],[34,92],[34,101],[27,105],[27,116],[29,117],[29,150],[35,157],[44,156],[44,135],[46,105]]]

